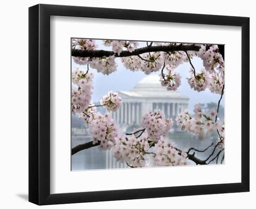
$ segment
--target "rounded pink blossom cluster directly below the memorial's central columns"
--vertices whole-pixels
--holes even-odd
[[[163,111],[149,111],[141,119],[141,127],[146,129],[148,137],[154,141],[166,136],[172,125],[172,119],[165,119]]]

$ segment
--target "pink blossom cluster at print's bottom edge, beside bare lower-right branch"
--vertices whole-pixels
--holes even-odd
[[[174,142],[168,138],[160,137],[160,140],[155,144],[153,152],[154,166],[170,166],[170,165],[189,165],[190,160],[187,158],[187,153],[179,151]]]

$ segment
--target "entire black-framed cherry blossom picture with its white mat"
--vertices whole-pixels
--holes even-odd
[[[29,8],[29,201],[249,191],[249,18]]]

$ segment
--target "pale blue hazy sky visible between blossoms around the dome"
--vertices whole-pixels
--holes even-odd
[[[104,50],[111,50],[110,47],[105,47],[101,43],[102,41],[96,41],[98,44],[98,49]],[[141,46],[145,46],[145,42],[139,42]],[[133,87],[144,77],[145,75],[143,72],[132,72],[127,70],[121,63],[120,59],[115,59],[116,64],[118,65],[117,71],[111,74],[103,75],[98,73],[95,69],[90,68],[90,71],[94,72],[94,89],[93,89],[93,102],[99,102],[100,98],[108,93],[108,91],[126,91],[131,90]],[[200,72],[203,68],[202,66],[202,59],[200,58],[193,58],[192,63],[195,67],[196,72]],[[79,67],[80,69],[87,70],[86,65],[77,65],[74,63],[72,59],[72,70],[74,67]],[[209,89],[201,92],[194,91],[190,88],[188,81],[186,78],[189,78],[189,63],[183,63],[179,65],[175,71],[179,72],[182,76],[182,83],[179,86],[178,90],[182,96],[186,96],[189,99],[189,111],[193,111],[194,105],[198,103],[209,103],[215,102],[217,103],[220,96],[219,94],[211,93]],[[155,72],[152,74],[159,74],[160,72]],[[221,104],[224,104],[224,98],[222,98]]]

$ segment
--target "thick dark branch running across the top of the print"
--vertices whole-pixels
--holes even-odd
[[[72,56],[74,57],[110,57],[115,55],[115,57],[129,57],[134,55],[140,55],[147,52],[174,52],[174,51],[199,51],[201,47],[191,45],[169,45],[169,46],[145,46],[135,49],[133,52],[122,51],[119,55],[113,51],[105,50],[80,50],[72,49]]]

